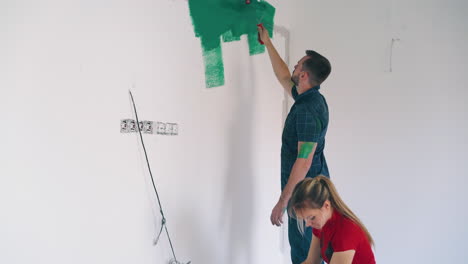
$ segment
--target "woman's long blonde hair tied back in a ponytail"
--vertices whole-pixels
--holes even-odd
[[[314,178],[305,178],[296,185],[291,199],[289,200],[288,214],[291,217],[297,218],[296,211],[306,208],[320,209],[327,200],[330,201],[333,209],[338,210],[340,214],[356,223],[366,233],[369,243],[374,245],[374,240],[367,228],[343,200],[341,200],[331,180],[323,175]],[[297,222],[299,228],[304,230],[304,221]],[[299,222],[301,223],[299,224]]]

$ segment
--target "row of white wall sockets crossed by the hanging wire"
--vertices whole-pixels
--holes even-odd
[[[134,119],[120,120],[120,133],[138,133],[136,126],[137,122]],[[157,121],[143,120],[139,122],[141,133],[156,134],[164,136],[179,135],[179,125],[177,123],[164,123]]]

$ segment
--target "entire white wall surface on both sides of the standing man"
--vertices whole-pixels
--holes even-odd
[[[310,48],[332,61],[326,155],[378,262],[463,261],[467,4],[271,2],[292,62]],[[165,237],[151,245],[159,216],[137,136],[119,133],[128,89],[140,118],[180,125],[145,136],[179,259],[283,263],[268,223],[283,93],[245,40],[223,52],[226,86],[205,89],[186,1],[0,2],[0,263],[170,258]]]

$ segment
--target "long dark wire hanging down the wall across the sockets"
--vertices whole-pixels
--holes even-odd
[[[138,113],[137,113],[137,110],[136,110],[136,106],[135,106],[135,100],[133,99],[133,95],[132,95],[132,92],[131,91],[128,91],[129,94],[130,94],[130,99],[132,100],[132,105],[133,105],[133,111],[135,113],[135,119],[136,119],[136,123],[139,124],[140,123],[140,120],[138,119]],[[158,204],[159,204],[159,212],[161,213],[161,229],[159,230],[159,233],[158,235],[156,236],[156,238],[154,239],[153,241],[153,245],[157,245],[158,242],[159,242],[159,238],[163,232],[163,230],[166,231],[166,235],[167,235],[167,239],[169,240],[169,245],[171,246],[171,251],[172,251],[172,257],[173,259],[171,259],[169,261],[169,264],[183,264],[182,262],[179,262],[177,260],[177,257],[176,257],[176,254],[175,254],[175,251],[174,251],[174,247],[172,245],[172,241],[171,241],[171,236],[169,235],[169,231],[167,229],[167,221],[166,221],[166,217],[164,215],[164,211],[162,209],[162,205],[161,205],[161,199],[159,198],[159,193],[158,193],[158,190],[156,189],[156,184],[154,183],[154,177],[153,177],[153,173],[151,171],[151,166],[150,166],[150,163],[149,163],[149,159],[148,159],[148,153],[146,152],[146,147],[145,147],[145,143],[143,141],[143,135],[142,135],[142,132],[141,132],[141,127],[139,125],[136,125],[137,127],[137,130],[138,130],[138,134],[140,135],[140,142],[141,142],[141,146],[143,147],[143,152],[145,154],[145,159],[146,159],[146,165],[148,166],[148,172],[149,172],[149,175],[151,177],[151,182],[153,184],[153,190],[156,194],[156,198],[158,200]],[[186,264],[190,264],[191,261],[187,262]]]

